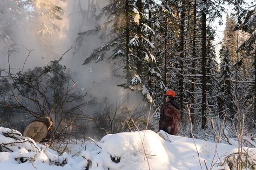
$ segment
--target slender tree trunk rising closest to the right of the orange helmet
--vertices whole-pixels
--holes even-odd
[[[181,114],[183,115],[183,57],[184,57],[184,34],[185,34],[185,8],[186,0],[182,0],[182,11],[181,11],[181,26],[180,26],[180,80],[179,80],[179,89],[180,89],[180,109]]]

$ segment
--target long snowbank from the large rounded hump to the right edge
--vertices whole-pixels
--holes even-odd
[[[153,131],[109,134],[98,146],[99,150],[82,154],[91,161],[90,170],[229,170],[225,158],[236,157],[237,152],[236,146],[198,139],[194,143],[192,138],[164,131],[160,135]],[[256,162],[256,149],[246,150],[245,155]]]

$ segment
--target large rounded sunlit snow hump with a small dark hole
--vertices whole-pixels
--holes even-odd
[[[168,150],[165,141],[153,131],[109,134],[98,144],[101,149],[84,151],[92,161],[91,170],[167,170]]]

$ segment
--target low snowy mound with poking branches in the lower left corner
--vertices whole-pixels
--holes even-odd
[[[60,156],[31,138],[22,137],[19,131],[0,127],[0,167],[1,170],[81,170],[83,162],[79,164],[67,153]]]

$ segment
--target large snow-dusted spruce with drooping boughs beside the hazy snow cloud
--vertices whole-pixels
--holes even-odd
[[[140,91],[145,100],[152,102],[157,108],[162,101],[158,98],[155,86],[160,87],[162,91],[166,88],[154,55],[154,6],[158,6],[154,0],[114,0],[104,7],[99,16],[107,15],[107,23],[114,24],[109,33],[111,40],[94,50],[84,64],[91,60],[103,60],[107,51],[114,51],[109,59],[121,61],[121,66],[126,71],[127,83],[119,86]],[[164,10],[161,6],[158,7]],[[126,22],[122,22],[123,19]]]

